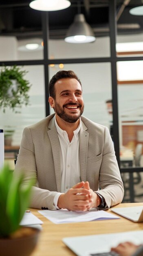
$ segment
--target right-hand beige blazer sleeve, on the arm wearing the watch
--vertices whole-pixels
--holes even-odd
[[[110,132],[105,127],[103,157],[99,174],[99,187],[97,191],[106,201],[108,207],[121,203],[124,195],[123,182],[114,152],[114,144]]]

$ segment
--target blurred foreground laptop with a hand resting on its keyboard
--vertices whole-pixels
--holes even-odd
[[[116,247],[127,240],[136,245],[143,244],[143,230],[62,239],[77,256],[118,256],[117,253],[110,252],[111,247]],[[143,247],[139,253],[132,256],[143,256]]]

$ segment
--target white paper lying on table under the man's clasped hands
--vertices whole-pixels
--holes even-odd
[[[106,211],[86,211],[86,212],[75,212],[68,210],[42,210],[38,211],[48,220],[51,220],[55,224],[70,223],[70,222],[87,222],[92,220],[109,220],[119,219],[119,217],[108,213]]]

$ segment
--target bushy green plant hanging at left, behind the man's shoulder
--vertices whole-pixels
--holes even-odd
[[[7,107],[15,111],[15,108],[21,108],[23,104],[28,105],[28,92],[31,85],[28,80],[24,79],[26,73],[26,70],[22,70],[16,65],[2,67],[0,71],[0,108],[3,112]]]

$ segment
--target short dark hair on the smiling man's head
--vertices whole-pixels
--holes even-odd
[[[58,71],[50,80],[49,86],[48,86],[48,90],[49,90],[49,95],[51,97],[53,97],[55,99],[55,88],[54,85],[55,83],[62,78],[75,78],[81,85],[81,81],[79,80],[79,78],[77,77],[77,75],[75,74],[75,72],[73,72],[72,70],[60,70]],[[82,89],[82,85],[81,85],[81,89]]]

